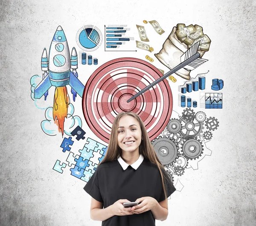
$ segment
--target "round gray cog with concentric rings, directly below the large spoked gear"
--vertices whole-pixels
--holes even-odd
[[[200,140],[196,140],[195,138],[186,140],[182,144],[182,152],[189,159],[199,158],[203,153],[203,144]]]

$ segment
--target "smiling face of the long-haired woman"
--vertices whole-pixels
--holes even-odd
[[[141,138],[140,123],[130,115],[122,116],[117,128],[117,141],[122,151],[139,152]]]

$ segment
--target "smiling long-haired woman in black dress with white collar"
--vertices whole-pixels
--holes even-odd
[[[102,226],[155,226],[155,219],[166,220],[167,197],[176,189],[137,114],[116,116],[105,157],[84,190],[92,197],[90,217]],[[139,204],[125,208],[126,202]]]

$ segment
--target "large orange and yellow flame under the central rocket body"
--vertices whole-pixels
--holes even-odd
[[[58,125],[59,132],[64,134],[64,120],[67,118],[67,108],[69,105],[69,96],[67,87],[56,87],[53,102],[53,119]]]

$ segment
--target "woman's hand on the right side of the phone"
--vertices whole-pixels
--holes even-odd
[[[139,205],[131,208],[131,212],[135,214],[140,214],[151,210],[157,205],[157,200],[150,196],[138,198],[135,202],[141,202]]]

